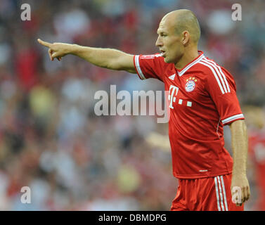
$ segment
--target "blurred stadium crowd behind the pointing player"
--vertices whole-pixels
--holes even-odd
[[[20,19],[23,3],[31,6],[30,21]],[[169,210],[177,187],[170,152],[146,141],[151,132],[167,135],[167,124],[93,111],[95,92],[110,84],[128,91],[163,84],[74,56],[51,62],[37,38],[155,53],[157,25],[177,8],[198,15],[200,50],[235,77],[256,141],[250,142],[252,196],[245,209],[264,210],[265,1],[238,1],[243,20],[236,22],[234,3],[0,0],[0,210]],[[231,152],[228,127],[225,134]],[[31,188],[31,204],[20,202],[22,186]]]

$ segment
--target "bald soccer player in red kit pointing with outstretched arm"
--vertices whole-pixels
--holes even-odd
[[[72,54],[102,68],[164,82],[169,91],[173,174],[179,179],[171,210],[243,210],[250,198],[247,131],[235,81],[226,69],[198,51],[200,25],[192,11],[167,13],[157,34],[161,53],[140,56],[38,41],[49,48],[51,60]],[[224,148],[224,125],[231,128],[233,159]]]

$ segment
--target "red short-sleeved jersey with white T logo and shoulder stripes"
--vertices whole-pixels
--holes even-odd
[[[169,141],[173,174],[196,179],[232,172],[223,127],[244,120],[232,75],[199,51],[182,70],[161,54],[134,56],[140,79],[156,78],[169,91]]]

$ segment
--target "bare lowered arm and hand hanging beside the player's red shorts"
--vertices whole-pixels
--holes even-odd
[[[242,205],[250,198],[250,185],[247,181],[247,128],[244,120],[237,120],[230,124],[231,141],[233,151],[233,173],[231,182],[231,193],[234,187],[240,188],[239,203]],[[236,188],[234,189],[236,190]]]

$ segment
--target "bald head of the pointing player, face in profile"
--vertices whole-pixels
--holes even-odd
[[[192,11],[180,9],[167,13],[160,22],[157,34],[155,45],[160,48],[165,63],[174,63],[179,68],[181,59],[186,63],[187,58],[193,60],[198,56],[200,25]]]

